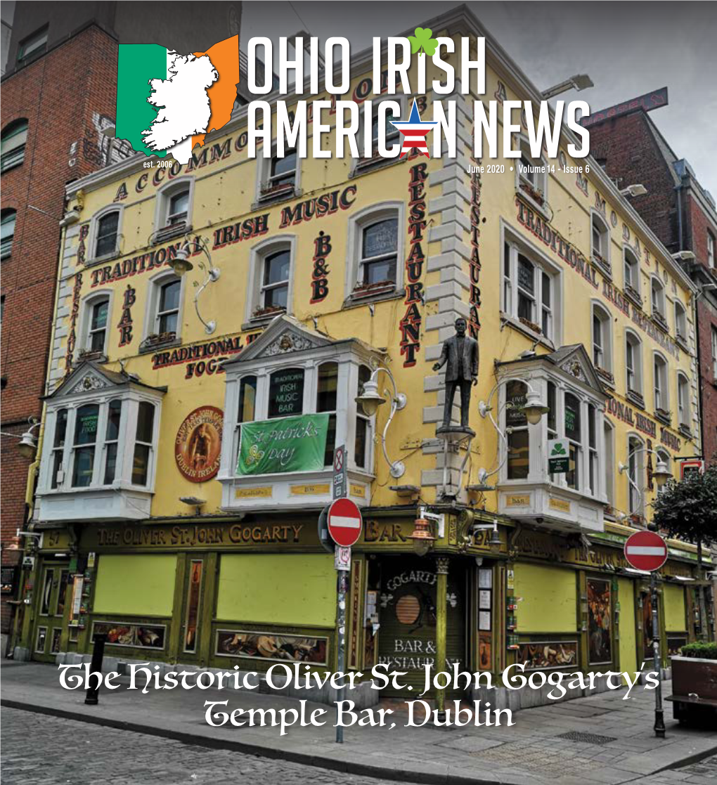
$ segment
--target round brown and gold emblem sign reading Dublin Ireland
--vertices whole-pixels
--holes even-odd
[[[179,426],[174,459],[190,482],[206,482],[219,471],[223,427],[224,412],[214,406],[200,406]]]

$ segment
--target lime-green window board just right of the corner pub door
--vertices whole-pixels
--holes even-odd
[[[576,572],[542,564],[515,565],[519,633],[574,633]]]

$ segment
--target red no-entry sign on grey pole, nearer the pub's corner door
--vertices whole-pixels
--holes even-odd
[[[337,451],[338,455],[338,451]],[[336,467],[336,458],[334,459]],[[327,514],[327,527],[331,539],[336,543],[334,566],[337,575],[337,619],[338,619],[338,671],[343,673],[346,668],[346,588],[349,583],[351,569],[351,546],[361,535],[363,520],[360,509],[349,498],[337,498],[331,502]],[[338,702],[344,698],[344,688],[338,690],[336,717],[338,721]],[[336,743],[343,743],[343,728],[336,725]]]

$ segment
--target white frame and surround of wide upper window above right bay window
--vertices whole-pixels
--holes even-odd
[[[507,230],[507,226],[505,227]],[[510,279],[505,274],[505,254],[506,245],[510,246]],[[500,309],[501,318],[507,321],[518,330],[528,333],[530,336],[544,341],[547,345],[554,347],[561,344],[562,336],[562,270],[550,259],[536,250],[535,246],[525,243],[519,239],[519,235],[512,232],[503,232],[503,241],[500,245]],[[518,316],[518,254],[527,257],[528,260],[538,270],[535,293],[535,311],[539,321],[534,322],[540,327],[540,332],[532,330],[531,327],[521,322]],[[540,275],[545,272],[551,279],[551,334],[543,333],[543,278]],[[510,283],[510,286],[506,284]]]

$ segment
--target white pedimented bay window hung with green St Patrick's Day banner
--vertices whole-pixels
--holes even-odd
[[[224,364],[225,432],[218,475],[224,509],[323,506],[331,501],[338,445],[346,447],[355,500],[368,502],[368,492],[363,494],[372,478],[373,419],[358,409],[355,398],[370,376],[370,360],[358,341],[331,341],[279,316],[236,360]],[[251,429],[245,427],[250,422]],[[305,460],[281,462],[278,453],[286,447],[287,428],[299,438],[319,429]],[[254,442],[247,439],[256,440],[260,450],[252,452]],[[274,450],[276,460],[269,461]],[[254,460],[259,451],[262,455]],[[255,487],[268,484],[270,495],[254,493]]]

